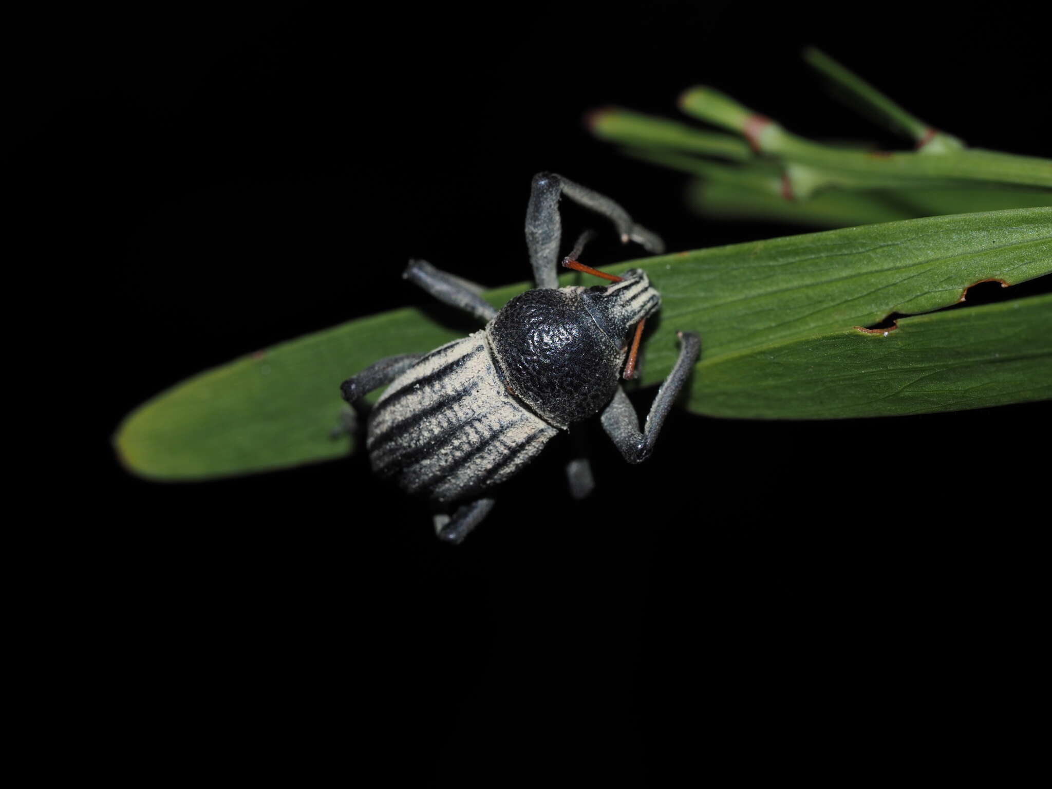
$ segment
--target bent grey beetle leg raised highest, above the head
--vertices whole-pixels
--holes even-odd
[[[560,195],[566,195],[573,202],[602,214],[613,222],[622,243],[634,241],[647,251],[664,251],[662,240],[642,225],[635,224],[628,211],[610,198],[554,173],[539,173],[533,176],[529,205],[526,208],[526,245],[529,247],[529,261],[533,266],[533,279],[538,287],[559,287],[559,242],[563,234],[559,218]]]

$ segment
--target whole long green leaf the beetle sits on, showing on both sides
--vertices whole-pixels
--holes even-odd
[[[659,318],[648,322],[643,383],[668,373],[676,330],[696,331],[702,361],[688,403],[701,413],[885,416],[1049,396],[1047,299],[902,321],[888,338],[853,327],[894,311],[949,306],[978,281],[1014,284],[1052,271],[1052,208],[851,227],[608,270],[635,266],[647,269],[664,299]],[[509,285],[486,298],[500,305],[526,287]],[[458,336],[411,309],[351,321],[159,394],[128,416],[115,443],[129,469],[164,480],[337,458],[350,448],[346,438],[328,434],[342,406],[340,382],[382,357],[427,351]],[[1008,361],[995,361],[1002,359]],[[910,383],[922,369],[942,371]],[[809,391],[815,402],[804,402]]]

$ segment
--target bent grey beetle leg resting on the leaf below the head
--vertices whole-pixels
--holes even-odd
[[[635,409],[620,386],[610,405],[603,411],[603,428],[629,463],[642,463],[650,457],[658,433],[661,432],[661,426],[665,423],[672,403],[675,402],[676,396],[683,389],[691,368],[697,361],[701,350],[697,335],[693,331],[681,331],[679,337],[680,358],[675,360],[672,371],[658,390],[658,397],[650,406],[643,432],[640,432],[640,420]]]

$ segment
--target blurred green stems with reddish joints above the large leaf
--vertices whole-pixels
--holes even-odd
[[[680,107],[725,132],[618,107],[590,113],[587,123],[630,157],[696,176],[687,203],[707,217],[847,227],[1052,205],[1052,160],[969,148],[821,50],[804,55],[837,97],[916,150],[814,142],[708,87],[685,92]]]

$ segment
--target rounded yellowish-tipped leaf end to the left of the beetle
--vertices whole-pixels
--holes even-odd
[[[195,376],[128,414],[116,445],[132,471],[196,480],[331,460],[340,382],[378,359],[427,351],[457,332],[414,309],[318,331]]]

